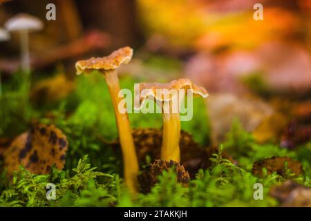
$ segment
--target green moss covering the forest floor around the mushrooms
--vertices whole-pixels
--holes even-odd
[[[110,144],[117,138],[117,127],[103,77],[77,77],[75,92],[53,104],[52,109],[32,106],[24,95],[23,84],[16,84],[18,80],[17,77],[3,85],[0,136],[14,137],[27,130],[30,119],[39,119],[56,124],[66,134],[69,148],[63,171],[53,168],[48,175],[35,175],[21,168],[12,180],[3,171],[0,206],[276,206],[268,191],[288,179],[290,171],[287,177],[272,173],[258,178],[251,173],[254,162],[272,156],[288,156],[302,162],[305,174],[296,182],[310,186],[310,144],[295,151],[275,144],[256,144],[252,135],[234,120],[220,152],[211,158],[211,168],[198,171],[188,186],[176,182],[173,171],[164,172],[150,193],[139,194],[133,200],[122,180],[120,150],[113,150]],[[133,92],[133,84],[142,80],[122,77],[120,84]],[[53,117],[46,117],[46,113]],[[162,127],[161,114],[129,114],[129,119],[135,128]],[[194,99],[194,117],[182,122],[182,129],[192,133],[202,146],[209,144],[209,119],[203,99]],[[232,155],[235,164],[223,159],[221,151]],[[254,200],[254,184],[258,182],[264,186],[264,200]],[[55,184],[56,200],[46,199],[47,183]]]

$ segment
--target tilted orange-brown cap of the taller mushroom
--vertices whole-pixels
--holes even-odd
[[[133,56],[133,49],[126,46],[115,50],[109,56],[92,57],[88,60],[77,61],[75,68],[77,75],[81,73],[91,73],[93,70],[114,70],[121,64],[128,64]]]

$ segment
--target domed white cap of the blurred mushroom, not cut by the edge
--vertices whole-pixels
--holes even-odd
[[[9,31],[41,30],[44,27],[44,24],[37,17],[21,13],[8,19],[5,26]]]

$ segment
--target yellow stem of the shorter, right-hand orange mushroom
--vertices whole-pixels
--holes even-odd
[[[179,113],[171,113],[171,102],[163,102],[163,137],[161,160],[180,162],[180,119]]]

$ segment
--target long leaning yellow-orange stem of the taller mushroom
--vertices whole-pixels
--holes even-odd
[[[120,91],[119,79],[117,78],[117,70],[105,70],[104,77],[106,79],[113,108],[115,110],[115,118],[117,120],[117,129],[119,131],[120,144],[122,148],[124,162],[124,180],[132,193],[136,192],[136,179],[138,175],[138,159],[135,152],[131,126],[127,113],[120,113],[118,104],[121,98],[118,96]]]

